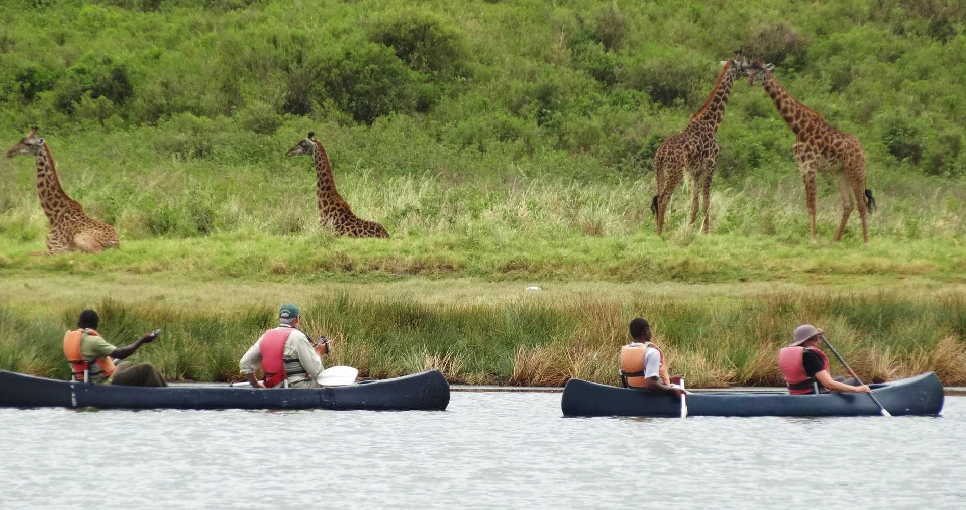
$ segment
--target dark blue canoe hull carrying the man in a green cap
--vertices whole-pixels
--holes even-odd
[[[306,389],[200,384],[112,386],[0,370],[0,408],[435,411],[446,409],[448,404],[449,384],[439,370],[351,386]]]

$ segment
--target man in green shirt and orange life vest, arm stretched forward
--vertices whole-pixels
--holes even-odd
[[[146,333],[125,347],[116,347],[100,336],[97,330],[98,323],[97,312],[84,310],[77,318],[77,329],[68,331],[64,336],[64,354],[71,362],[71,368],[75,369],[75,363],[82,359],[87,361],[90,382],[109,382],[121,386],[163,387],[168,385],[151,363],[134,364],[130,361],[122,361],[114,366],[114,359],[128,357],[142,345],[153,342],[157,337],[157,331]]]

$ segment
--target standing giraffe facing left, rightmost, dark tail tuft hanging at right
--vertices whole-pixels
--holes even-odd
[[[775,67],[771,64],[752,62],[747,71],[748,82],[764,86],[781,118],[795,133],[795,144],[791,151],[798,161],[799,173],[805,183],[811,241],[815,241],[815,177],[818,172],[828,172],[838,179],[838,195],[842,202],[842,219],[838,224],[836,241],[841,240],[849,214],[855,209],[855,202],[858,202],[862,240],[868,245],[866,213],[872,213],[875,199],[872,198],[872,190],[866,187],[866,152],[862,143],[855,136],[829,126],[821,113],[792,98],[772,74],[773,69]]]

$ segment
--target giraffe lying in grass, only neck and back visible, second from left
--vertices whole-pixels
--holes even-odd
[[[314,139],[315,133],[309,131],[305,139],[289,149],[285,156],[312,155],[315,161],[316,199],[319,203],[319,214],[322,224],[331,225],[337,236],[348,235],[351,238],[388,238],[389,233],[383,225],[366,219],[361,219],[353,213],[349,204],[335,190],[335,179],[332,177],[332,163],[328,161],[326,148],[322,142]]]

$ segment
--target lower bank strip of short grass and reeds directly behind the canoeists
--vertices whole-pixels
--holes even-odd
[[[451,382],[558,385],[579,377],[616,383],[627,321],[642,315],[655,324],[671,370],[696,387],[778,384],[775,355],[802,322],[826,327],[868,380],[936,370],[946,384],[966,382],[966,291],[956,285],[831,291],[666,284],[648,293],[639,284],[598,284],[525,293],[516,283],[471,280],[425,286],[236,282],[216,293],[212,283],[185,291],[151,279],[81,281],[63,290],[55,289],[55,280],[6,284],[5,291],[48,296],[41,305],[18,297],[0,308],[0,368],[66,377],[63,331],[78,307],[94,306],[102,332],[118,343],[162,327],[161,338],[137,358],[156,363],[169,379],[230,380],[244,350],[271,326],[276,301],[288,296],[301,303],[307,331],[336,339],[329,363],[353,365],[365,377],[435,367]],[[199,302],[199,296],[207,299]]]

